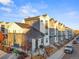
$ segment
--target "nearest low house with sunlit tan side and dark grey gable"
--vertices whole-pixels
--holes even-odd
[[[43,44],[40,41],[43,36],[40,31],[28,24],[12,23],[8,28],[8,45],[16,48],[25,47],[26,50],[35,51]]]

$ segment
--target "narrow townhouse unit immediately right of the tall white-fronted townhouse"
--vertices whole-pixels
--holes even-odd
[[[56,43],[56,28],[55,26],[55,20],[53,18],[50,19],[49,21],[49,40],[50,40],[50,45],[53,45]]]

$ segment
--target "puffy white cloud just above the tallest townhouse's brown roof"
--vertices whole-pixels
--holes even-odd
[[[19,8],[19,13],[23,16],[33,16],[34,14],[38,14],[39,10],[32,5],[27,4]]]

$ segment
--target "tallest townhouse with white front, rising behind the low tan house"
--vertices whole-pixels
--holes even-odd
[[[36,17],[25,18],[25,23],[33,26],[44,34],[43,41],[44,46],[49,46],[49,19],[48,15],[41,15]]]

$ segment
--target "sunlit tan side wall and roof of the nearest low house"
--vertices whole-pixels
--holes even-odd
[[[30,26],[23,23],[11,23],[8,28],[8,45],[9,46],[24,46],[24,42],[27,43],[27,37],[25,33],[28,32]]]

